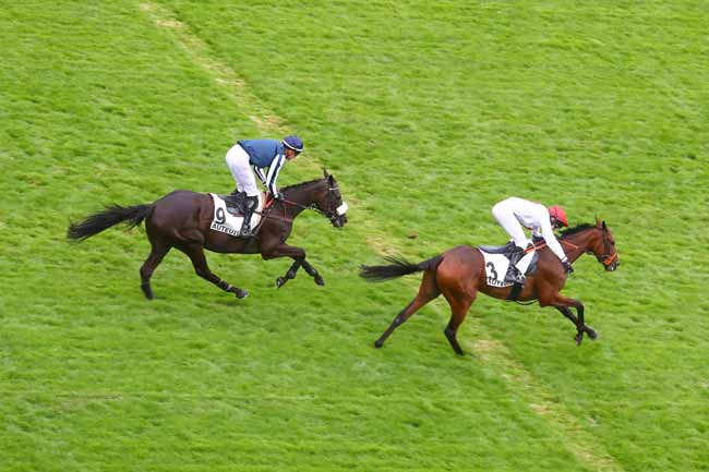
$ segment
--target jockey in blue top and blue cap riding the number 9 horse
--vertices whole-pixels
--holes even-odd
[[[259,206],[259,187],[256,186],[254,173],[271,196],[283,199],[283,194],[278,192],[276,186],[278,172],[280,172],[286,160],[293,159],[302,150],[303,141],[291,135],[286,136],[283,141],[240,140],[227,152],[227,166],[237,182],[237,189],[231,195],[237,195],[239,192],[247,194],[243,223],[240,231],[242,237],[251,235],[251,217],[256,206]],[[251,171],[252,167],[253,172]],[[265,170],[266,168],[267,170]]]

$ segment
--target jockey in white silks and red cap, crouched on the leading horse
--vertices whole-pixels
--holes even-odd
[[[574,271],[562,245],[554,235],[554,229],[568,226],[568,219],[562,207],[554,205],[546,208],[540,203],[513,196],[493,206],[492,215],[507,231],[515,244],[515,250],[509,256],[509,268],[505,275],[506,282],[525,283],[525,274],[517,268],[517,263],[526,254],[526,250],[533,249],[534,245],[525,234],[522,227],[531,230],[533,237],[544,239],[549,249],[564,265],[564,270],[567,274]]]

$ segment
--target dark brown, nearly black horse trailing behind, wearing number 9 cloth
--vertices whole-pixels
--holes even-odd
[[[251,238],[235,238],[209,229],[214,216],[212,197],[185,190],[177,190],[152,204],[106,207],[79,223],[71,223],[67,237],[81,242],[120,222],[127,222],[132,228],[145,220],[151,254],[141,267],[141,289],[148,300],[154,298],[151,276],[172,247],[190,257],[200,277],[235,293],[239,299],[247,296],[248,292],[227,283],[209,270],[205,249],[217,253],[261,254],[264,259],[291,257],[293,264],[284,277],[276,279],[276,287],[280,288],[295,278],[300,267],[314,278],[315,283],[323,286],[325,282],[321,275],[305,261],[305,251],[286,244],[286,240],[292,230],[293,219],[304,209],[323,214],[335,228],[341,228],[347,222],[347,205],[343,203],[337,181],[326,170],[323,179],[281,189],[284,201],[276,202],[263,213],[261,229]]]

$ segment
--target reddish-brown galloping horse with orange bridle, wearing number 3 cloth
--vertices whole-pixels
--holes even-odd
[[[620,265],[615,239],[610,228],[605,226],[605,221],[597,219],[596,225],[585,223],[569,228],[562,232],[560,242],[572,263],[588,253],[594,254],[605,270],[615,270]],[[537,300],[541,306],[551,305],[562,312],[576,325],[574,339],[577,344],[581,343],[584,332],[588,334],[591,339],[596,339],[598,336],[596,331],[584,323],[584,304],[560,293],[566,282],[566,274],[561,261],[543,242],[537,244],[537,251],[539,254],[537,273],[527,277],[517,301]],[[409,316],[443,293],[450,305],[450,320],[443,332],[453,350],[462,355],[456,334],[478,292],[503,300],[507,299],[512,292],[512,287],[501,288],[488,285],[482,253],[477,247],[469,245],[453,247],[419,264],[396,257],[388,257],[387,261],[392,264],[362,266],[360,276],[369,281],[384,281],[423,271],[423,280],[416,298],[394,318],[388,329],[376,340],[374,346],[377,348],[384,346],[386,338]],[[572,306],[576,308],[578,317],[572,313]]]

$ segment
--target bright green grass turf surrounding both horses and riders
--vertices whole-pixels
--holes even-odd
[[[709,9],[700,1],[26,1],[0,9],[0,470],[709,470]],[[300,134],[349,223],[290,261],[170,253],[70,220],[227,192],[241,137]],[[438,300],[372,346],[418,278],[360,264],[505,240],[518,195],[606,220],[553,308]]]

